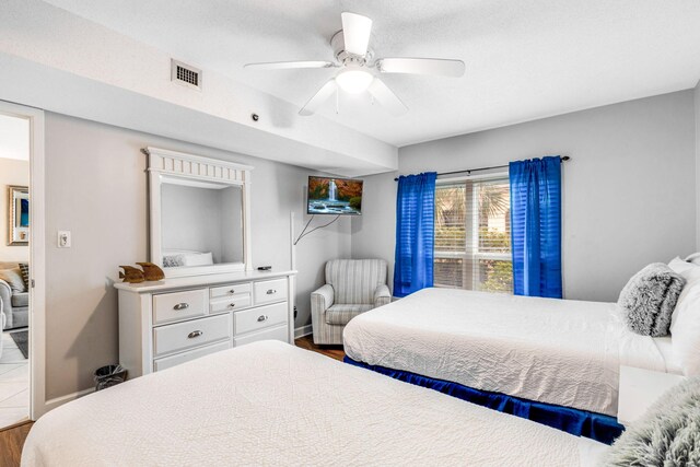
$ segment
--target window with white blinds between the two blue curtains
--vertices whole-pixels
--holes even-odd
[[[434,285],[513,292],[508,177],[438,182]]]

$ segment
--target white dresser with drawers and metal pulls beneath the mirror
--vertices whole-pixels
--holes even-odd
[[[294,341],[296,271],[116,283],[119,363],[137,377],[264,339]]]

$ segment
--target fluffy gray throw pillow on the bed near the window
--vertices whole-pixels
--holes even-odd
[[[653,262],[632,276],[617,301],[627,327],[642,336],[668,335],[670,315],[685,283],[663,262]]]

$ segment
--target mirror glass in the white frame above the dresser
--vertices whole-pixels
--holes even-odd
[[[243,262],[241,186],[162,180],[163,267]]]

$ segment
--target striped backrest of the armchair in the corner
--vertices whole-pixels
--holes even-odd
[[[326,262],[326,283],[332,285],[336,303],[374,303],[374,291],[386,284],[386,269],[383,259],[335,259]]]

